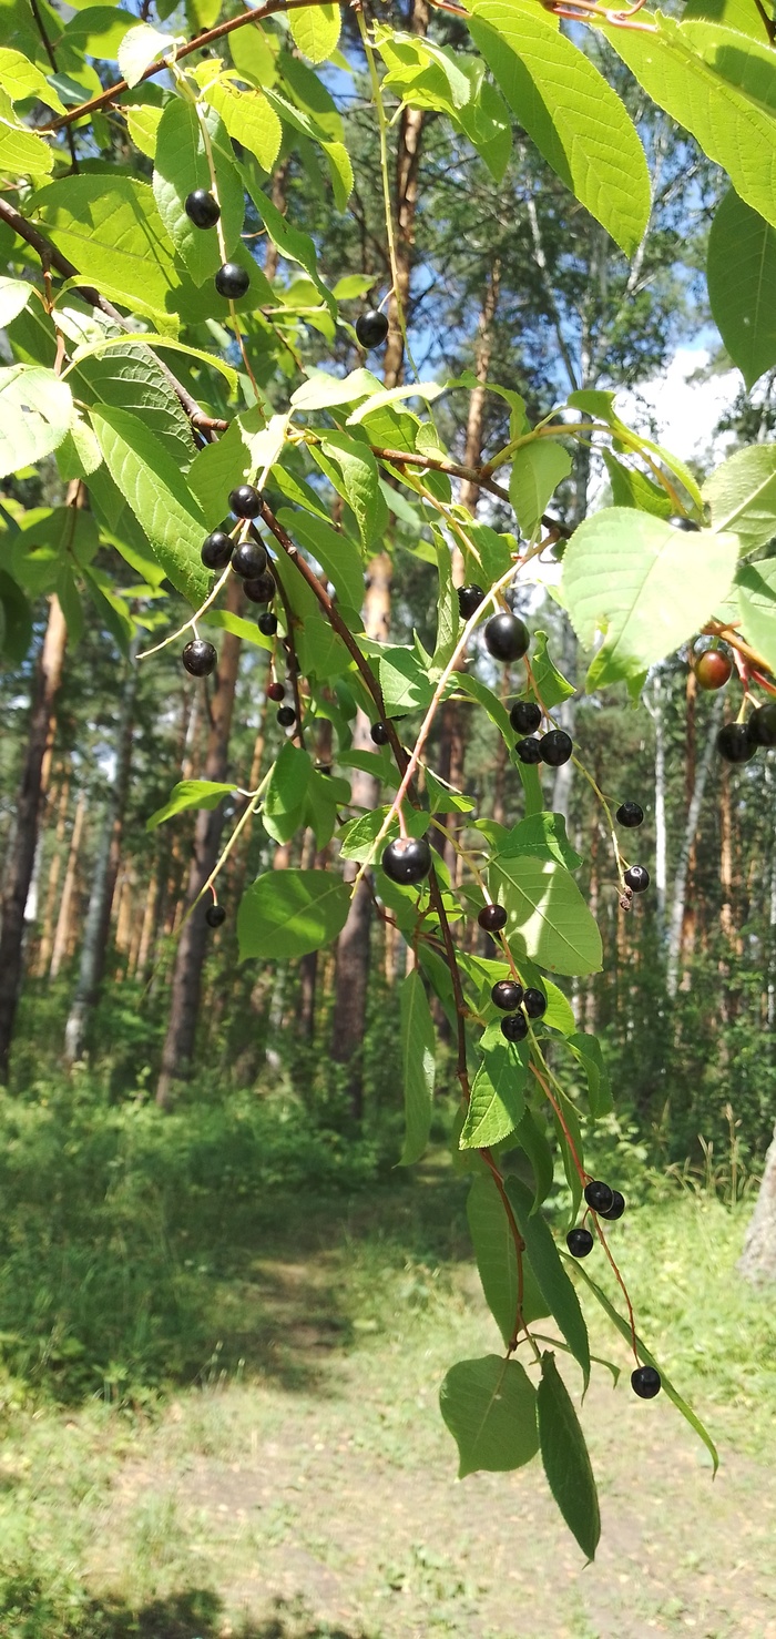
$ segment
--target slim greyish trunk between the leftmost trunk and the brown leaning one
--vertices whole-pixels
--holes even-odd
[[[129,646],[121,713],[116,724],[116,769],[113,785],[105,803],[102,831],[97,842],[87,926],[83,929],[83,944],[80,949],[79,982],[75,985],[75,995],[72,998],[65,1024],[67,1064],[75,1064],[77,1059],[83,1057],[88,1019],[98,998],[105,969],[110,910],[121,854],[121,824],[124,818],[126,793],[129,787],[129,764],[133,756],[134,700],[138,695],[138,647],[139,639],[133,638]]]

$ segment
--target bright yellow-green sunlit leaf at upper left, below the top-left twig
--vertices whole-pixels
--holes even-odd
[[[178,277],[151,184],[115,172],[62,177],[41,188],[33,207],[57,249],[102,295],[165,311]]]

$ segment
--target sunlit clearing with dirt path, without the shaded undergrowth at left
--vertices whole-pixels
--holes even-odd
[[[196,1382],[121,1410],[8,1378],[0,1639],[776,1639],[776,1316],[735,1277],[747,1210],[674,1195],[617,1226],[640,1329],[720,1470],[665,1396],[598,1369],[584,1565],[539,1464],[455,1478],[439,1383],[498,1347],[460,1180],[432,1165],[268,1206],[221,1239],[200,1213],[216,1347]],[[586,1308],[596,1352],[627,1367]]]

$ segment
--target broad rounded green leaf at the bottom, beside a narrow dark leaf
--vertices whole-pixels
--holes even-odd
[[[539,1451],[535,1388],[519,1360],[486,1354],[450,1367],[439,1395],[458,1447],[458,1480],[522,1469]]]

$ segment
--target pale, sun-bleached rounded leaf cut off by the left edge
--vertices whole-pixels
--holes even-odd
[[[70,388],[54,370],[36,364],[0,369],[0,477],[51,456],[70,418]]]

